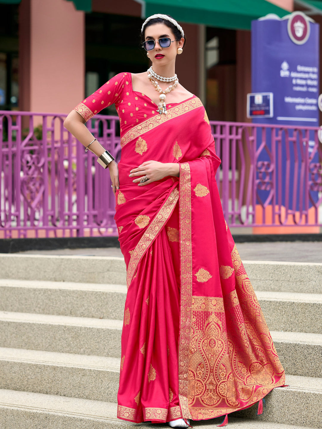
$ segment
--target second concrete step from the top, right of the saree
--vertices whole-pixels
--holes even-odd
[[[322,294],[255,291],[267,325],[273,331],[322,334]]]

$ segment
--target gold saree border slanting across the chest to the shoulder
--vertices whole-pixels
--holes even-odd
[[[201,106],[203,106],[203,104],[198,97],[195,97],[192,100],[188,100],[182,104],[179,104],[179,106],[174,106],[170,109],[167,109],[167,115],[157,115],[146,119],[145,121],[141,122],[141,124],[136,125],[127,133],[125,133],[125,135],[121,139],[121,148],[123,148],[128,142],[131,142],[131,140],[142,136],[147,131],[153,130],[153,128],[164,124],[164,122],[181,116],[184,113],[191,112],[191,110],[197,109]]]

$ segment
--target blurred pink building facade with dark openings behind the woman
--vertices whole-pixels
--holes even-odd
[[[199,15],[189,3],[173,7],[187,37],[176,73],[218,121],[246,121],[251,20],[310,7],[314,19],[322,13],[309,4],[321,3],[322,9],[322,1],[258,0],[250,13],[253,0],[243,0],[239,11],[229,0],[205,0]],[[116,73],[145,71],[149,62],[139,43],[143,8],[164,12],[162,4],[0,0],[0,109],[68,113]]]

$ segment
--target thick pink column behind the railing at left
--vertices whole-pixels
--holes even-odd
[[[68,113],[84,97],[85,16],[66,0],[22,0],[20,109]]]

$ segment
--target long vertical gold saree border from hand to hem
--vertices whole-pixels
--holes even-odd
[[[188,355],[190,343],[192,297],[192,242],[191,242],[191,174],[188,163],[180,164],[179,179],[181,303],[179,332],[179,402],[182,417],[191,419],[188,408]]]

